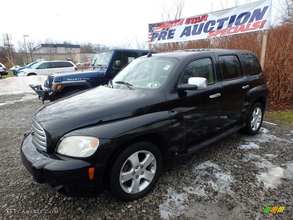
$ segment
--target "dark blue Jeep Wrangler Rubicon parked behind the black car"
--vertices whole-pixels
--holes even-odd
[[[96,53],[87,70],[62,72],[49,75],[44,86],[29,85],[42,101],[69,96],[85,89],[97,87],[112,79],[125,65],[149,50],[113,49]],[[152,51],[151,53],[157,53]]]

